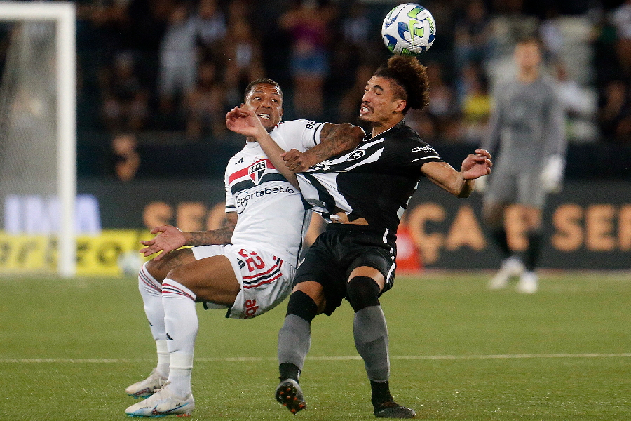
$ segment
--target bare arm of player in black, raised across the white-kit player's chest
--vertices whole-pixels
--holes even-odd
[[[296,175],[285,166],[285,161],[283,161],[283,157],[280,156],[285,150],[278,146],[269,133],[267,133],[266,128],[262,125],[257,114],[245,106],[234,107],[226,114],[226,127],[235,133],[240,133],[248,138],[254,138],[259,142],[259,145],[261,145],[263,152],[265,152],[272,165],[283,174],[283,177],[285,177],[292,186],[297,189],[300,188]]]

